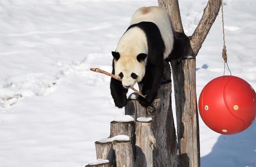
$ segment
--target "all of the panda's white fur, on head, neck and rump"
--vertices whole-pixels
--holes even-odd
[[[133,14],[130,25],[142,21],[157,25],[165,44],[163,58],[167,58],[173,48],[173,33],[168,13],[158,6],[142,7]],[[128,29],[119,40],[116,52],[120,54],[120,58],[118,61],[114,60],[115,75],[119,77],[119,73],[123,73],[123,86],[128,88],[136,82],[140,82],[145,75],[147,58],[145,61],[138,62],[137,56],[140,53],[148,54],[147,38],[144,31],[139,27]],[[138,78],[133,79],[131,73],[138,75]]]

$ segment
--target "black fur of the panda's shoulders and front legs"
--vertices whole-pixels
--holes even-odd
[[[163,79],[163,52],[165,51],[165,44],[156,24],[142,21],[140,23],[131,25],[127,30],[131,29],[132,27],[139,27],[144,31],[148,44],[146,72],[141,81],[143,84],[141,92],[142,94],[146,95],[146,98],[143,98],[142,96],[138,97],[140,104],[147,107],[156,98],[160,82]],[[112,74],[115,74],[114,59],[112,61],[112,68]],[[127,104],[126,94],[128,89],[123,87],[121,81],[111,78],[110,90],[114,103],[118,108],[122,108]]]

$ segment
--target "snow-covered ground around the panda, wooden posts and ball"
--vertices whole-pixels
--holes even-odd
[[[228,63],[256,89],[256,1],[224,5]],[[94,141],[123,115],[110,96],[118,39],[133,12],[156,1],[0,1],[0,167],[80,167],[95,159]],[[187,35],[206,1],[180,1]],[[197,57],[197,95],[223,73],[217,17]],[[21,97],[22,96],[22,97]],[[200,119],[202,167],[256,167],[256,123],[220,135]]]

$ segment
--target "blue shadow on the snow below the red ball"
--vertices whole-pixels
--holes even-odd
[[[235,135],[221,135],[201,167],[256,167],[256,123]]]

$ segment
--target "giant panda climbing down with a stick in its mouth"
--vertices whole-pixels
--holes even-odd
[[[130,25],[112,52],[110,91],[118,108],[127,104],[127,91],[136,82],[142,83],[138,97],[142,106],[149,106],[157,96],[163,79],[163,61],[173,48],[173,33],[168,13],[157,6],[142,7],[131,17]]]

